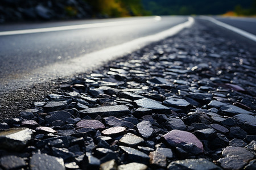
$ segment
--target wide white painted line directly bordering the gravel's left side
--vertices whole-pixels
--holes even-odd
[[[181,24],[177,24],[174,27],[156,33],[154,35],[140,37],[123,44],[111,46],[97,52],[84,54],[83,56],[69,59],[60,63],[53,63],[52,65],[44,66],[40,69],[31,71],[29,75],[24,74],[20,78],[1,79],[0,78],[0,91],[12,90],[12,87],[22,88],[24,86],[31,86],[34,83],[43,83],[49,80],[54,80],[59,77],[70,76],[79,73],[86,73],[96,69],[108,61],[112,61],[123,55],[129,54],[143,48],[151,42],[157,42],[159,40],[166,39],[180,32],[182,29],[191,27],[194,23],[194,19],[189,17],[187,21]],[[9,86],[7,86],[8,84]],[[13,84],[13,85],[11,85]]]

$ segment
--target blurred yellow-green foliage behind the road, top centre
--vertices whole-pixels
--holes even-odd
[[[93,8],[94,16],[121,17],[150,15],[141,0],[84,0]]]

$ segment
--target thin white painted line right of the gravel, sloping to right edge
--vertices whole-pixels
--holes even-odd
[[[252,33],[243,31],[242,29],[233,27],[233,26],[231,26],[231,25],[229,25],[229,24],[222,23],[222,22],[220,22],[220,21],[218,21],[218,20],[216,20],[216,19],[214,19],[214,18],[212,18],[212,17],[209,17],[209,16],[201,16],[201,18],[202,18],[202,19],[209,20],[210,22],[213,22],[213,23],[215,23],[215,24],[217,24],[217,25],[220,25],[221,27],[224,27],[224,28],[226,28],[226,29],[229,29],[229,30],[231,30],[231,31],[233,31],[233,32],[236,32],[236,33],[238,33],[238,34],[240,34],[240,35],[242,35],[242,36],[244,36],[244,37],[246,37],[246,38],[248,38],[248,39],[253,40],[253,41],[256,42],[256,36],[253,35]]]

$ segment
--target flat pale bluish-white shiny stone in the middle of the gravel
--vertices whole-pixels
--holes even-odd
[[[134,101],[139,107],[152,109],[153,111],[170,111],[170,109],[162,104],[160,104],[158,101],[152,100],[152,99],[139,99]]]

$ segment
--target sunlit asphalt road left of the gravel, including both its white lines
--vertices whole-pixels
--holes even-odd
[[[192,23],[147,16],[0,25],[0,91],[82,73]]]

